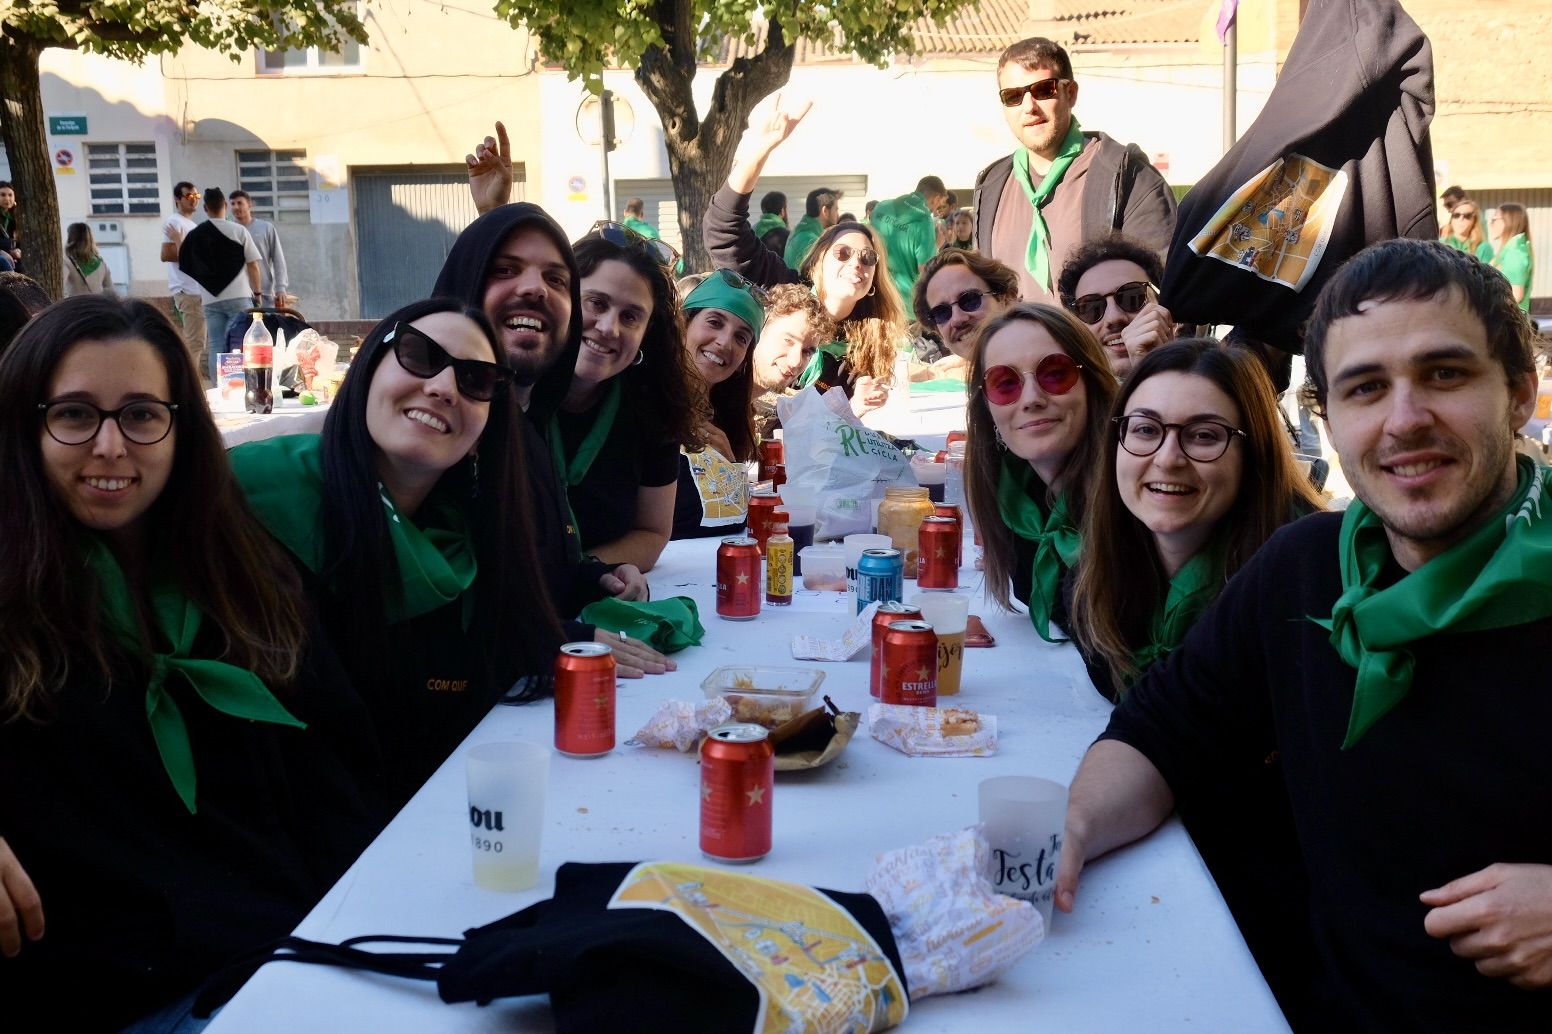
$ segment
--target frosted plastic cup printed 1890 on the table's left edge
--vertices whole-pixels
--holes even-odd
[[[539,840],[545,828],[549,750],[539,744],[476,744],[469,767],[469,841],[475,883],[486,890],[528,890],[539,882]]]

